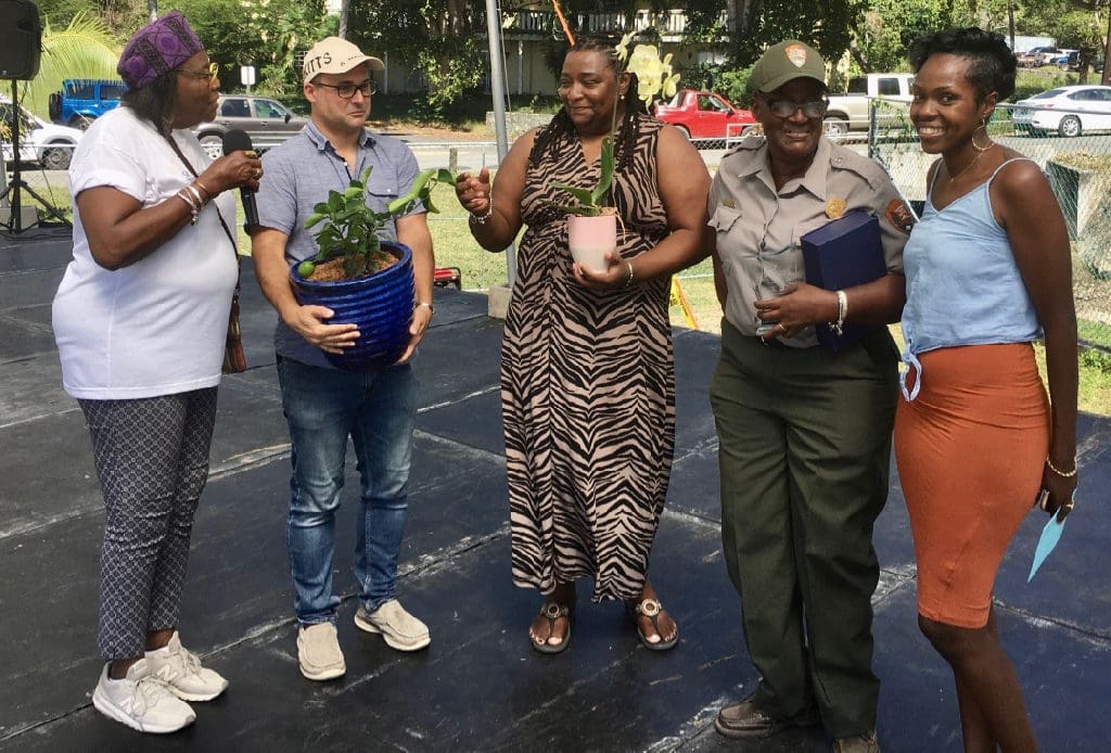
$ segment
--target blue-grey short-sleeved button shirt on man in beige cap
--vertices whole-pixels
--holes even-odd
[[[263,175],[256,203],[259,224],[279,230],[286,242],[286,262],[290,265],[317,254],[316,230],[304,230],[312,208],[327,201],[331,190],[343,191],[350,181],[368,167],[373,170],[368,181],[368,203],[377,211],[408,191],[420,172],[409,145],[393,137],[372,134],[363,130],[359,143],[358,164],[348,165],[331,142],[310,122],[301,132],[262,155]],[[419,202],[410,212],[427,211]],[[397,227],[391,219],[382,229],[383,240],[397,240]],[[274,350],[283,358],[323,369],[333,369],[322,350],[308,343],[280,319],[274,331]]]

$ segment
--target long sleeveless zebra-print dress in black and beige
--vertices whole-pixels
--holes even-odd
[[[668,234],[657,190],[662,124],[638,120],[635,154],[614,174],[621,255]],[[501,396],[513,583],[549,593],[594,578],[593,601],[640,594],[674,450],[675,396],[667,278],[595,292],[575,282],[567,203],[549,181],[594,185],[578,139],[529,165],[528,225],[506,319]],[[622,228],[623,223],[623,228]]]

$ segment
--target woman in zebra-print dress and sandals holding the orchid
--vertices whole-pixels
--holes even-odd
[[[528,225],[501,384],[512,575],[543,594],[529,630],[543,653],[568,645],[579,578],[593,579],[593,601],[625,602],[649,649],[678,640],[648,560],[674,446],[669,281],[705,255],[709,174],[678,130],[643,112],[635,84],[612,48],[580,42],[563,61],[563,108],[518,139],[493,190],[486,169],[457,184],[483,248],[500,251]],[[572,262],[551,204],[568,197],[550,183],[595,185],[614,122],[619,248],[593,272]]]

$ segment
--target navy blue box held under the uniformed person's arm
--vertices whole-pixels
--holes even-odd
[[[825,290],[843,290],[879,280],[888,273],[880,240],[880,221],[863,210],[811,230],[800,239],[807,282]],[[818,342],[834,352],[857,342],[878,328],[871,324],[842,327],[841,334],[828,324],[814,328]]]

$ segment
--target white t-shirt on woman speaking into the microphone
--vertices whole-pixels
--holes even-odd
[[[197,138],[173,132],[198,173],[211,162]],[[73,154],[73,260],[53,303],[62,384],[74,398],[126,400],[220,383],[228,313],[236,289],[234,249],[217,207],[236,232],[236,200],[224,191],[144,259],[110,271],[89,251],[77,197],[108,185],[142,202],[167,200],[193,180],[154,127],[119,107],[98,118]]]

